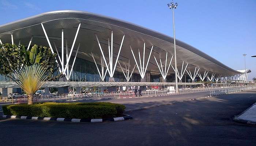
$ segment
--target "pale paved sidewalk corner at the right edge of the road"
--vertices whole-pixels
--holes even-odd
[[[235,121],[256,125],[256,103],[234,118]]]

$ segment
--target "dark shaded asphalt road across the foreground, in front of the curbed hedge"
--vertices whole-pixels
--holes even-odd
[[[189,100],[131,112],[105,123],[0,120],[0,145],[11,146],[255,146],[256,126],[236,123],[256,102],[256,91]]]

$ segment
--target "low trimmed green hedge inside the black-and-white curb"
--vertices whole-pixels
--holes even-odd
[[[38,103],[4,105],[5,115],[54,118],[110,118],[123,115],[125,106],[114,103]]]

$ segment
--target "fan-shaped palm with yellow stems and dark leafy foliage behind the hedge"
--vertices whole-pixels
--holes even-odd
[[[63,76],[57,73],[58,69],[56,54],[47,47],[34,45],[26,50],[23,45],[0,45],[0,74],[11,78],[25,91],[28,104],[33,104],[34,93],[46,81]]]

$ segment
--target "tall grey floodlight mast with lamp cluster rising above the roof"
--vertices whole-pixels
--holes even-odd
[[[175,62],[175,88],[176,93],[178,93],[178,78],[177,78],[177,60],[176,60],[176,42],[175,42],[175,27],[174,27],[174,9],[177,8],[178,3],[173,3],[173,1],[170,4],[167,4],[170,9],[173,11],[173,39],[174,39],[174,62]]]

